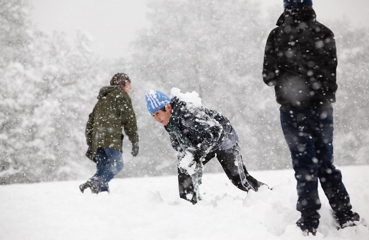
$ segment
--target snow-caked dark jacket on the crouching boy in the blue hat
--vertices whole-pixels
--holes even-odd
[[[205,156],[223,145],[232,130],[230,121],[217,111],[180,101],[177,97],[172,98],[171,105],[170,121],[164,127],[177,151],[190,147]],[[179,132],[173,131],[173,126]]]

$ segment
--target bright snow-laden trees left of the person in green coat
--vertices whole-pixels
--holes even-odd
[[[79,34],[70,44],[62,33],[35,31],[27,2],[1,2],[0,11],[0,181],[79,176],[90,111],[83,104],[92,108],[103,72],[91,40]]]

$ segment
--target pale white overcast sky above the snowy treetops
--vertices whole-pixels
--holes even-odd
[[[30,3],[32,22],[37,29],[46,33],[62,31],[70,39],[75,38],[78,30],[87,32],[92,36],[96,53],[115,58],[124,56],[138,29],[149,26],[146,19],[149,1],[155,0],[30,0]],[[283,11],[283,0],[254,1]],[[354,26],[369,26],[368,0],[313,0],[313,7],[323,24],[345,17]]]

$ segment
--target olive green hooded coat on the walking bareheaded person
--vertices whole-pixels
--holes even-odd
[[[136,115],[131,98],[119,86],[103,87],[89,121],[86,124],[86,142],[96,156],[98,147],[122,152],[123,128],[132,143],[138,142]]]

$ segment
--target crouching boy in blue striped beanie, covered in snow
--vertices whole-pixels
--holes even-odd
[[[180,93],[178,88],[173,88],[171,93],[172,99],[161,91],[151,90],[145,100],[149,113],[164,125],[177,151],[180,198],[192,204],[201,200],[199,185],[203,165],[215,154],[227,177],[242,191],[257,191],[264,185],[247,172],[237,132],[225,116],[204,107],[194,92],[197,98],[190,93]]]

